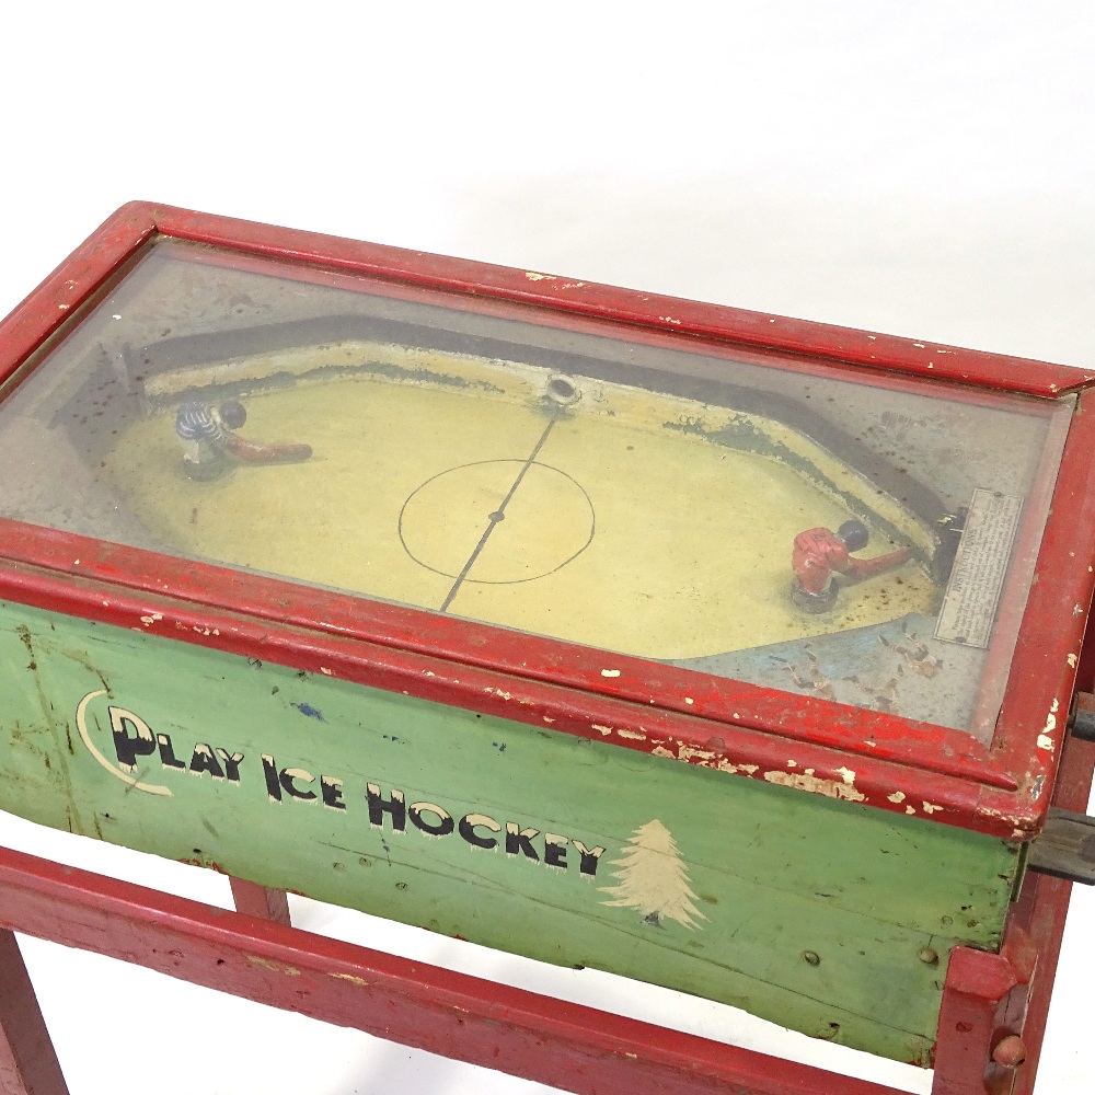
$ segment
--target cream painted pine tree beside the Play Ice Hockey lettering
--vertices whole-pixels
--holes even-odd
[[[662,920],[676,920],[685,927],[695,927],[694,917],[707,919],[692,903],[695,894],[689,888],[684,861],[671,833],[657,818],[632,833],[622,857],[613,860],[611,866],[620,868],[612,872],[620,885],[601,887],[601,892],[615,898],[602,904],[635,909],[647,923],[658,925]]]

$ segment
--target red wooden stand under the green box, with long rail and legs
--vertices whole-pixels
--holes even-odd
[[[1083,809],[1093,769],[1069,741],[1057,805]],[[249,911],[227,912],[0,849],[0,1090],[67,1095],[14,931],[579,1095],[900,1095],[302,932],[258,889],[234,885]],[[1030,875],[999,955],[955,948],[933,1095],[1030,1095],[1070,892]]]

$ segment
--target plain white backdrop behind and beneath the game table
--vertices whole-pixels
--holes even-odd
[[[20,7],[2,31],[0,314],[139,197],[1095,368],[1090,0]],[[0,839],[228,901],[196,868],[3,817]],[[929,1090],[727,1008],[296,914]],[[1039,1092],[1090,1090],[1093,929],[1083,890]],[[73,1095],[549,1091],[25,949]]]

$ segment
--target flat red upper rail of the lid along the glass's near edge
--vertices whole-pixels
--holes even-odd
[[[277,581],[227,567],[212,567],[140,549],[0,518],[0,544],[13,561],[108,581],[151,596],[168,596],[211,609],[244,612],[270,624],[359,638],[446,658],[515,677],[580,689],[827,747],[848,749],[1015,789],[1011,775],[970,735],[873,711],[627,655],[517,635],[474,621],[419,609],[349,598],[304,584]],[[10,574],[0,568],[0,595],[19,599]],[[94,608],[94,600],[90,601]],[[602,670],[619,676],[604,677]],[[691,702],[689,702],[691,701]]]

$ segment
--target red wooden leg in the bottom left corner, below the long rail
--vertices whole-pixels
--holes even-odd
[[[14,932],[0,930],[0,1092],[68,1095]]]

